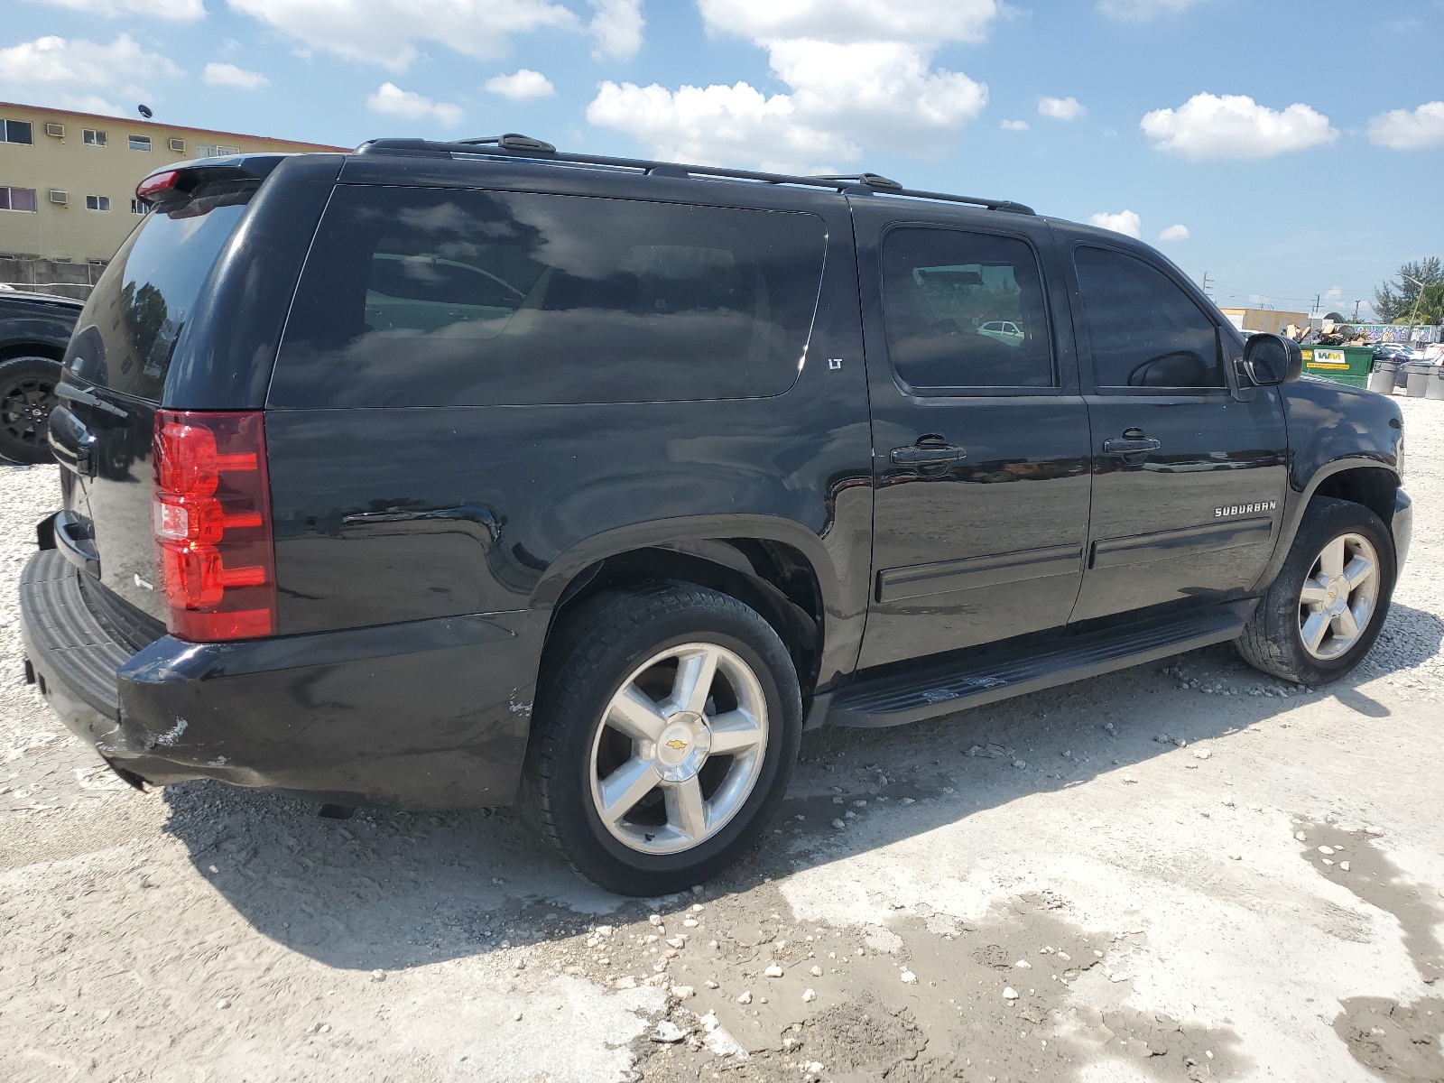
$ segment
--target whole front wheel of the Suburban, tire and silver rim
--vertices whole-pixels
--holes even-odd
[[[1239,654],[1300,684],[1344,676],[1379,635],[1395,575],[1393,537],[1373,511],[1315,497],[1238,640]]]

